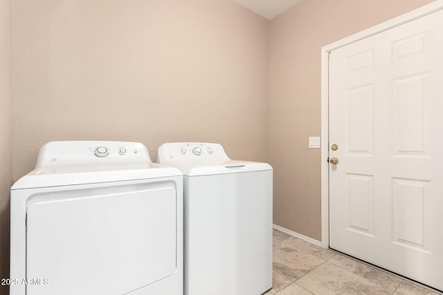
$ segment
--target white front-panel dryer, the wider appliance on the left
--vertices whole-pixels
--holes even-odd
[[[10,295],[181,295],[182,210],[143,144],[49,142],[11,188]]]

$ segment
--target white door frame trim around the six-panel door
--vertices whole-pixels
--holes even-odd
[[[329,53],[337,48],[413,21],[443,9],[443,0],[436,0],[404,15],[380,23],[321,48],[321,245],[329,247]]]

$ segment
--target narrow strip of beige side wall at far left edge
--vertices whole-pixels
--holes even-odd
[[[12,3],[0,1],[0,278],[9,277],[12,184]],[[8,288],[0,285],[0,294]]]

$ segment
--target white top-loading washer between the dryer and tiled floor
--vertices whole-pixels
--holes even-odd
[[[272,167],[230,160],[220,144],[195,142],[163,144],[157,162],[183,172],[185,294],[270,289]]]

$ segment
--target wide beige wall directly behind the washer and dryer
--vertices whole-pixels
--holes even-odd
[[[269,21],[227,0],[15,0],[15,180],[51,140],[269,155]]]

